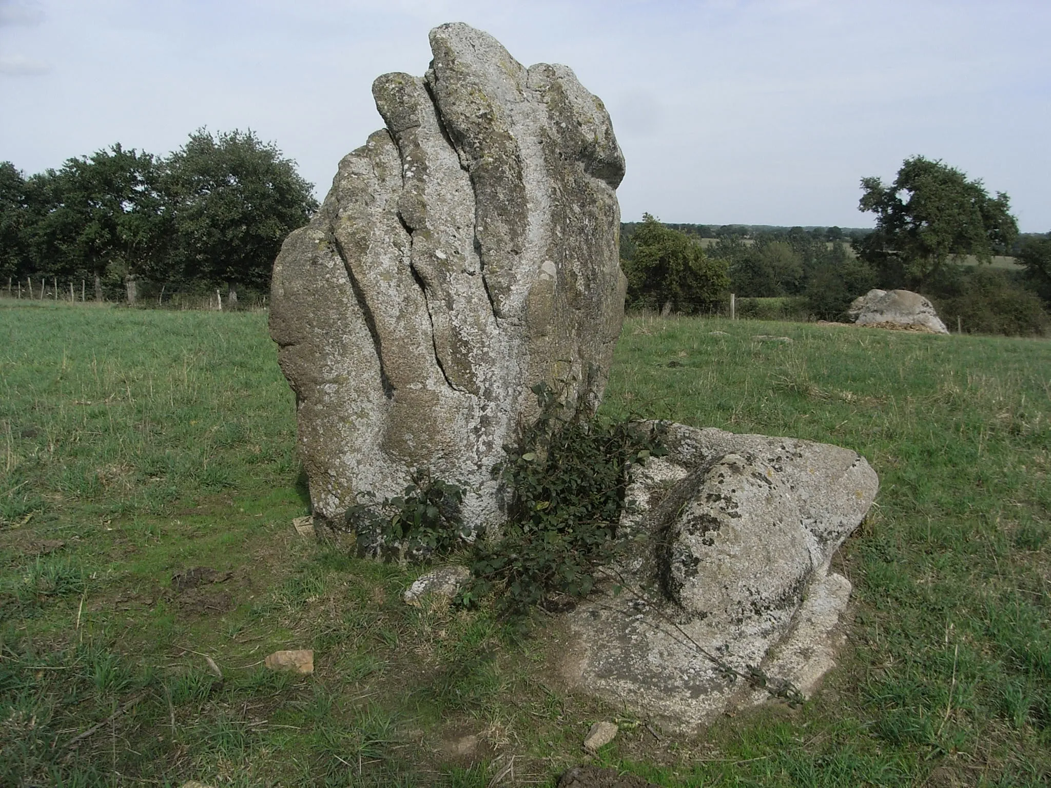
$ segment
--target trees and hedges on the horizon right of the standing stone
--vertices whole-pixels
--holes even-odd
[[[907,159],[890,184],[865,178],[861,186],[859,209],[875,214],[872,229],[662,224],[648,213],[624,223],[628,307],[713,312],[733,292],[779,298],[771,318],[840,320],[869,289],[902,288],[969,331],[1051,328],[1051,233],[1019,234],[1007,194],[990,196],[982,181],[924,157]],[[992,268],[998,255],[1021,269]]]

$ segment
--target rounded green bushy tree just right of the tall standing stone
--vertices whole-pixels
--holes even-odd
[[[726,262],[708,257],[694,239],[644,213],[632,242],[635,253],[624,266],[628,304],[696,312],[722,300],[729,285]]]

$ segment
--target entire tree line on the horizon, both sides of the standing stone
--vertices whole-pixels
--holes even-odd
[[[771,317],[840,319],[872,287],[906,288],[969,330],[1051,325],[1051,233],[1019,234],[1006,194],[923,157],[890,184],[861,186],[872,229],[623,223],[627,306],[704,313],[733,292],[785,299]],[[130,304],[144,292],[266,292],[284,239],[318,207],[312,188],[251,130],[199,129],[167,157],[118,143],[29,177],[0,162],[0,287],[82,281],[97,300]],[[1023,268],[981,265],[1001,254]]]

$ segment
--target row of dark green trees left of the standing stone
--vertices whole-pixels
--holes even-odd
[[[199,129],[158,157],[117,143],[25,177],[0,163],[0,286],[83,281],[96,300],[267,290],[282,242],[317,209],[313,186],[251,130]]]

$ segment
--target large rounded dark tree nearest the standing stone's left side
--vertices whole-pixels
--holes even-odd
[[[317,209],[311,190],[273,143],[251,130],[200,129],[166,162],[174,217],[172,260],[188,278],[266,287],[289,232]]]

